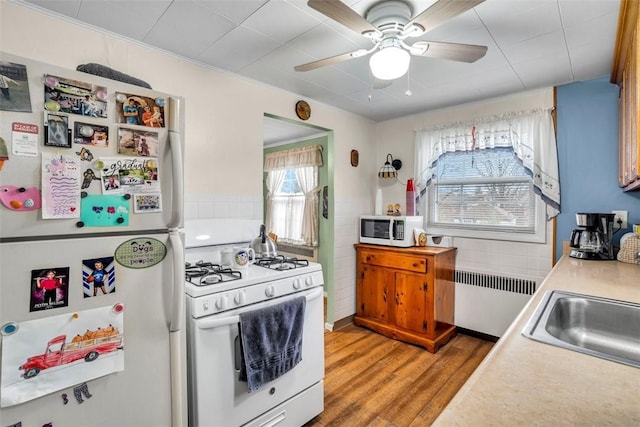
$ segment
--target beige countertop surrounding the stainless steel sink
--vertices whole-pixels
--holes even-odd
[[[640,426],[640,369],[521,331],[548,290],[640,303],[640,266],[563,257],[435,426]]]

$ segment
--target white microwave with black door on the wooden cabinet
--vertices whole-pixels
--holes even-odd
[[[423,228],[421,216],[363,215],[360,217],[360,243],[415,246],[415,229]]]

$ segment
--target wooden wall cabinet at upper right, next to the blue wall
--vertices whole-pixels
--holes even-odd
[[[625,191],[640,190],[640,25],[638,1],[623,0],[611,81],[618,99],[618,181]]]

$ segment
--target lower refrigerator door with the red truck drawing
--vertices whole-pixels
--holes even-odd
[[[137,249],[130,250],[126,255],[123,252],[126,247]],[[152,260],[150,255],[139,254],[145,248],[153,248],[157,252],[163,247],[166,247],[166,256],[163,258],[158,255]],[[147,250],[147,253],[150,252],[150,249]],[[123,253],[124,256],[121,255]],[[109,257],[116,258],[112,265],[105,265],[115,281],[109,283],[106,293],[96,289],[94,296],[91,286],[86,289],[86,277],[90,270],[84,264],[88,263],[87,260],[98,258],[106,258],[105,264],[109,264]],[[174,332],[170,332],[169,326],[176,321],[176,316],[183,316],[184,309],[183,265],[174,268],[174,262],[183,260],[181,235],[141,234],[3,243],[0,245],[0,259],[0,325],[4,325],[0,393],[3,426],[18,422],[22,422],[23,426],[41,426],[50,422],[54,426],[170,426],[172,418],[173,425],[186,425],[183,414],[186,405],[180,402],[181,396],[172,396],[172,382],[175,393],[182,394],[185,389],[182,373],[186,360],[184,336],[179,331],[181,325],[176,325]],[[158,263],[153,265],[154,262]],[[146,268],[137,268],[141,265]],[[68,276],[64,281],[67,284],[66,295],[62,295],[61,299],[67,305],[31,311],[37,305],[32,296],[35,290],[33,278],[37,275],[34,275],[34,271],[49,269],[56,269],[58,275]],[[177,277],[180,280],[175,283]],[[74,395],[74,388],[80,384],[71,379],[90,375],[95,367],[100,366],[99,363],[115,353],[100,354],[95,360],[78,360],[64,366],[42,369],[32,378],[18,376],[21,372],[18,366],[10,366],[7,355],[15,356],[17,350],[8,347],[7,342],[33,329],[30,328],[33,324],[44,325],[39,333],[46,339],[34,342],[30,351],[24,357],[18,357],[19,360],[44,353],[47,341],[54,337],[81,333],[74,325],[80,324],[89,313],[100,309],[107,309],[111,313],[112,309],[117,310],[118,307],[124,308],[121,312],[124,338],[122,349],[117,351],[124,357],[124,370],[86,380],[91,397],[82,395],[82,403]],[[48,323],[61,315],[68,319],[64,325]],[[6,325],[12,324],[13,328],[6,328]],[[96,324],[99,324],[99,319]],[[6,333],[14,329],[13,334]],[[53,378],[67,378],[70,383],[59,380],[57,389],[48,394],[20,404],[6,405],[7,400],[19,395],[15,393],[17,388],[37,394],[39,388],[51,387],[49,384]]]

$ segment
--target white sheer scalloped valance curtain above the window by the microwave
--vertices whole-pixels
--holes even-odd
[[[547,219],[560,212],[558,154],[551,110],[537,109],[469,122],[419,129],[415,140],[415,176],[419,197],[426,194],[432,167],[445,153],[511,147],[533,176],[547,206]]]

